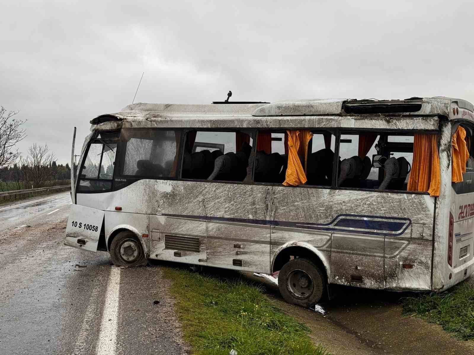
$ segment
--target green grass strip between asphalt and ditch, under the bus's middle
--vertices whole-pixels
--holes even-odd
[[[329,355],[315,346],[310,329],[275,307],[263,289],[242,279],[225,280],[165,268],[193,354]]]

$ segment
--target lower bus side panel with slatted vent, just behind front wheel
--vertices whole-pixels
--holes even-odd
[[[206,221],[150,215],[150,258],[206,265]]]

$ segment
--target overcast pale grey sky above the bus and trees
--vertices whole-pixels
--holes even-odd
[[[8,3],[8,4],[7,4]],[[58,163],[135,102],[450,96],[474,102],[473,1],[7,1],[0,105]]]

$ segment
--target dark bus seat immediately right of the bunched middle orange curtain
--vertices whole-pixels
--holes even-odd
[[[308,154],[308,185],[331,185],[334,152],[328,148]]]

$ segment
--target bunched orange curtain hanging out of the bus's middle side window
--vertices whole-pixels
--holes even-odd
[[[305,170],[301,165],[300,157],[298,156],[298,150],[302,145],[302,149],[305,152],[305,163],[306,157],[308,156],[308,142],[310,141],[313,133],[310,131],[297,131],[289,130],[288,133],[288,168],[286,169],[286,178],[283,182],[285,186],[296,186],[306,183],[307,178]]]

